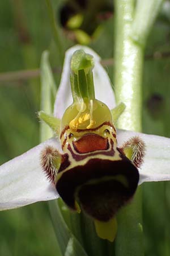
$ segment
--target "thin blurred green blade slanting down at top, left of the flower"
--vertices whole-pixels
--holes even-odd
[[[54,41],[55,41],[57,49],[58,49],[58,54],[59,54],[58,59],[62,61],[65,49],[63,48],[61,32],[59,31],[59,26],[56,23],[53,6],[52,6],[52,3],[51,3],[50,0],[46,0],[46,6],[47,6],[48,14],[49,14],[49,19],[50,19],[50,25],[51,25],[51,28],[52,28],[53,38],[54,38]]]

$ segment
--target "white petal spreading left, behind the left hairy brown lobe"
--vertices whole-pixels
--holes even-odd
[[[60,149],[57,139],[51,138],[0,166],[0,210],[58,198],[40,164],[41,151],[47,145]]]

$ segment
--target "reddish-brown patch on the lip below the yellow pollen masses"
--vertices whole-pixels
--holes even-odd
[[[85,134],[78,141],[73,142],[73,146],[80,154],[109,148],[108,139],[97,134]]]

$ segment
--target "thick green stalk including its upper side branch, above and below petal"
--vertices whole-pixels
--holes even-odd
[[[125,112],[118,119],[120,129],[141,131],[142,68],[147,35],[160,9],[161,0],[116,0],[116,43],[114,85],[117,104]],[[136,6],[135,6],[136,3]],[[138,189],[133,202],[118,214],[116,256],[143,256],[142,197]]]

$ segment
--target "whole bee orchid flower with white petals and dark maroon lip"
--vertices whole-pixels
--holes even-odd
[[[54,115],[39,114],[54,137],[0,166],[0,210],[61,196],[69,208],[94,218],[100,237],[113,241],[102,225],[115,225],[114,214],[137,185],[170,180],[170,139],[116,131],[113,121],[123,110],[100,57],[84,46],[67,50]]]

